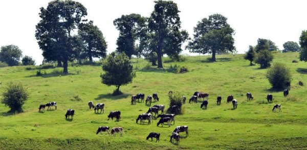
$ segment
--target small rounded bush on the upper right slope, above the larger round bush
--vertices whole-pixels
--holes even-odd
[[[271,61],[273,60],[272,53],[267,50],[261,50],[256,54],[255,63],[260,64],[260,68],[267,68],[271,66]]]

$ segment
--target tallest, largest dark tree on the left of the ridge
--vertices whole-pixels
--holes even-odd
[[[36,25],[35,37],[47,61],[63,62],[63,72],[68,73],[68,61],[73,60],[80,49],[73,47],[77,38],[73,35],[82,19],[87,15],[86,8],[75,1],[52,1],[47,8],[40,8],[41,20]]]

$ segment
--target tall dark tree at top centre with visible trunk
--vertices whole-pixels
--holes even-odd
[[[147,51],[157,53],[158,68],[163,68],[162,56],[179,55],[183,42],[188,39],[188,33],[185,30],[180,31],[180,11],[176,3],[161,0],[155,3],[154,10],[148,18],[149,33],[145,36],[147,38],[141,40],[142,43],[149,43]],[[144,39],[147,41],[144,42]],[[152,45],[155,45],[155,48],[149,48]]]

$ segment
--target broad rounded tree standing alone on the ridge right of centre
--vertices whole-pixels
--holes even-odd
[[[234,30],[227,23],[227,18],[221,14],[213,14],[196,24],[194,39],[186,48],[191,53],[212,54],[211,60],[215,61],[216,53],[235,51],[232,35]]]

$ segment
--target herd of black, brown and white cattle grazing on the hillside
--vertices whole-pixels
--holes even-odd
[[[172,94],[172,91],[168,92],[169,94]],[[289,90],[285,89],[283,90],[283,96],[286,97],[289,94]],[[202,92],[194,92],[194,94],[191,96],[191,98],[189,99],[189,103],[197,103],[199,98],[203,98],[203,103],[201,104],[201,108],[205,108],[207,109],[207,105],[208,105],[208,97],[209,94],[208,93],[202,93]],[[247,100],[249,101],[250,99],[252,100],[254,97],[252,96],[252,93],[248,92],[246,93],[246,97]],[[131,96],[131,105],[136,105],[136,102],[139,102],[139,99],[141,99],[141,103],[145,101],[145,104],[148,106],[151,106],[151,101],[153,99],[154,102],[159,102],[159,97],[157,93],[153,93],[152,96],[147,95],[146,100],[144,99],[145,95],[143,93],[139,93],[137,95],[133,95]],[[267,100],[268,103],[272,103],[273,102],[273,95],[272,94],[268,94],[267,95]],[[186,97],[183,96],[182,97],[182,103],[185,104],[186,101]],[[218,95],[216,98],[216,104],[217,105],[221,105],[221,101],[222,101],[222,96]],[[227,97],[227,103],[232,103],[233,105],[233,109],[237,108],[237,100],[234,99],[233,95],[228,95]],[[96,106],[93,104],[92,101],[90,101],[88,103],[89,108],[92,109],[94,108],[94,112],[103,113],[104,110],[104,104],[99,103],[96,104]],[[55,109],[57,109],[57,105],[56,102],[50,102],[47,103],[46,105],[39,105],[39,112],[45,110],[45,107],[48,107],[47,110],[51,109],[51,106],[54,106]],[[170,106],[171,107],[171,112],[177,112],[177,110],[179,109],[178,106]],[[277,104],[273,106],[272,111],[274,112],[274,110],[278,109],[281,112],[281,105]],[[161,114],[159,115],[159,111],[161,111]],[[71,116],[71,119],[73,119],[75,110],[73,109],[68,109],[67,113],[65,114],[66,119]],[[136,123],[138,123],[138,121],[140,120],[140,123],[144,124],[144,120],[148,120],[148,124],[151,124],[151,122],[153,122],[153,113],[155,113],[154,116],[157,116],[157,118],[161,117],[161,119],[159,120],[159,122],[157,123],[157,126],[159,126],[159,124],[161,124],[161,126],[163,127],[164,123],[168,124],[168,127],[170,127],[170,123],[173,122],[173,124],[175,124],[175,120],[174,117],[176,116],[175,114],[164,114],[164,105],[153,105],[152,107],[150,107],[148,109],[148,111],[146,113],[142,113],[138,116],[138,118],[136,119]],[[116,118],[117,120],[119,120],[121,118],[121,112],[120,111],[111,111],[107,117],[108,120],[110,118]],[[102,132],[107,132],[109,134],[109,127],[99,127],[96,134],[98,133],[102,133]],[[172,135],[170,136],[170,141],[173,142],[173,139],[175,139],[177,141],[177,143],[180,141],[180,132],[186,132],[186,137],[188,136],[188,126],[178,126],[175,128],[175,130],[172,132]],[[120,137],[122,137],[122,133],[123,133],[123,128],[122,127],[114,127],[111,129],[111,136],[114,135],[115,133],[120,133]],[[110,135],[110,134],[109,134]],[[160,141],[160,133],[156,133],[156,132],[151,132],[149,133],[149,135],[147,136],[146,140],[148,140],[149,138],[156,138],[156,142]]]

